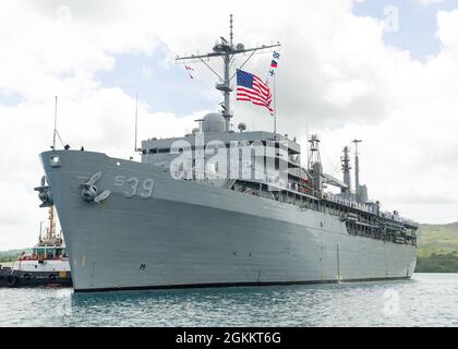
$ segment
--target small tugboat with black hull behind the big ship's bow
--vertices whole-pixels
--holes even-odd
[[[53,206],[49,207],[46,236],[24,251],[12,267],[0,267],[0,287],[71,287],[72,277],[65,243],[56,232]]]

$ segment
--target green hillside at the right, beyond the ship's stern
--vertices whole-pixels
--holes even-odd
[[[458,221],[421,225],[417,273],[458,273]]]

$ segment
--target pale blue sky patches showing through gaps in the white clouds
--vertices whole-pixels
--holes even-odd
[[[420,0],[366,0],[355,3],[353,13],[385,20],[384,10],[389,5],[399,10],[399,31],[386,32],[385,44],[408,50],[412,59],[425,62],[439,50],[439,41],[435,37],[437,11],[457,9],[458,0],[430,4],[423,4]],[[201,51],[204,49],[196,48]],[[212,87],[214,81],[200,79],[200,71],[206,69],[201,67],[203,64],[194,65],[196,71],[192,81],[182,65],[174,65],[172,62],[165,64],[165,60],[166,55],[161,48],[150,56],[116,56],[114,68],[97,73],[96,77],[105,87],[120,87],[132,97],[138,92],[138,98],[155,111],[171,111],[177,116],[184,116],[197,110],[215,109],[220,99],[219,94]],[[180,103],[177,103],[177,98],[181,99]],[[11,97],[9,101],[11,104],[16,100]]]

